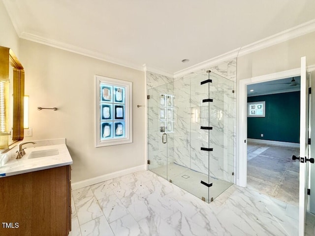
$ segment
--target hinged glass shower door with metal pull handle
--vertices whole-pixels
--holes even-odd
[[[148,169],[165,179],[173,156],[175,97],[172,91],[173,83],[148,89]]]

